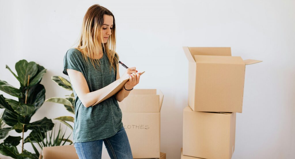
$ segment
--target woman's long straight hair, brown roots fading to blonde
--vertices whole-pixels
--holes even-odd
[[[103,43],[103,37],[101,35],[102,26],[104,24],[104,15],[110,15],[113,17],[113,27],[112,27],[112,36],[110,35],[108,41]],[[98,38],[100,37],[100,38]],[[104,53],[109,58],[110,62],[110,70],[114,68],[114,71],[117,69],[117,63],[119,61],[119,56],[115,52],[116,50],[116,25],[115,18],[111,11],[100,6],[98,4],[94,4],[89,7],[87,10],[82,24],[81,36],[78,41],[78,46],[75,49],[79,50],[84,60],[88,63],[86,55],[90,58],[92,65],[95,68],[94,63],[96,63],[99,67],[99,59],[94,59],[94,55],[97,53]],[[95,68],[96,69],[96,68]]]

